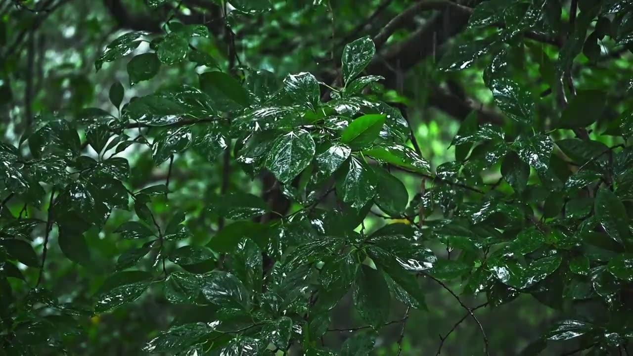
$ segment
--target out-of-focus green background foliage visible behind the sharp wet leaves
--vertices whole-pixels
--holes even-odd
[[[201,68],[190,62],[160,69],[153,80],[132,86],[126,70],[127,61],[105,63],[96,72],[94,61],[103,53],[104,46],[118,35],[130,30],[161,32],[168,19],[181,23],[204,23],[211,30],[211,38],[194,40],[197,49],[210,54],[222,68],[227,68],[229,53],[225,45],[223,20],[218,1],[179,0],[0,0],[0,134],[5,142],[15,142],[35,115],[41,112],[65,111],[77,115],[82,108],[98,107],[116,113],[108,96],[113,83],[125,88],[124,102],[170,84],[193,84]],[[242,0],[235,3],[242,3]],[[377,35],[396,15],[403,13],[415,1],[411,0],[273,0],[272,10],[255,14],[230,11],[229,23],[235,32],[235,46],[241,63],[238,68],[265,69],[278,78],[287,73],[309,71],[323,82],[329,82],[340,68],[338,58],[344,44],[362,35]],[[477,1],[460,1],[473,6]],[[567,2],[563,1],[563,5]],[[563,22],[569,17],[563,6]],[[491,92],[482,80],[485,63],[461,72],[442,73],[436,63],[454,41],[463,23],[448,10],[419,11],[408,18],[389,37],[377,53],[373,72],[386,80],[376,84],[382,99],[406,110],[415,130],[423,155],[436,168],[454,160],[454,148],[449,143],[461,122],[473,109],[492,122],[503,122],[499,111],[491,105]],[[463,22],[463,21],[461,21]],[[461,34],[476,36],[470,33]],[[598,42],[599,48],[581,54],[575,67],[574,79],[585,88],[610,89],[614,105],[608,115],[617,116],[618,105],[625,105],[627,80],[633,77],[632,58],[628,48],[615,48],[608,39]],[[133,54],[149,48],[145,42]],[[553,96],[547,96],[548,78],[558,48],[536,44],[510,48],[508,63],[513,79],[529,87],[535,95],[543,94],[536,110],[546,117],[555,110]],[[595,51],[598,53],[596,54]],[[589,56],[587,56],[589,54]],[[131,57],[132,55],[130,55]],[[618,98],[619,97],[619,98]],[[599,123],[598,123],[599,125]],[[125,152],[132,170],[130,185],[134,189],[163,182],[167,165],[152,168],[151,154],[133,146]],[[146,167],[146,168],[144,168]],[[498,170],[491,170],[486,180],[498,181]],[[418,193],[420,181],[401,174],[410,197]],[[192,212],[187,225],[194,239],[205,241],[213,229],[216,217],[204,212],[206,201],[218,194],[221,184],[220,162],[203,162],[199,156],[185,155],[177,160],[172,174],[173,193],[167,205],[154,201],[154,211],[160,215],[170,210]],[[235,187],[253,185],[241,171],[233,170],[230,184]],[[252,186],[253,193],[261,187]],[[502,187],[500,189],[507,189]],[[22,205],[11,204],[17,214]],[[28,216],[42,216],[44,212],[28,208]],[[135,245],[135,241],[121,241],[110,232],[127,219],[130,212],[117,210],[108,220],[104,231],[86,234],[92,264],[79,266],[68,261],[56,244],[52,243],[47,257],[44,285],[60,302],[73,300],[89,305],[104,276],[113,269],[118,251]],[[390,220],[368,217],[367,228],[376,229]],[[34,239],[38,252],[42,236]],[[438,255],[449,250],[436,248]],[[147,263],[149,262],[147,259]],[[23,293],[34,286],[37,271],[22,270],[25,282],[12,280],[16,290]],[[429,310],[415,311],[408,320],[403,339],[403,355],[434,355],[446,333],[463,317],[463,308],[447,291],[437,284],[424,286]],[[478,305],[476,300],[465,300]],[[332,327],[353,327],[361,322],[346,298],[334,313]],[[86,318],[85,333],[65,337],[74,345],[77,355],[142,355],[142,346],[165,329],[173,319],[187,319],[199,310],[187,310],[171,305],[162,293],[146,293],[140,300],[108,314]],[[403,315],[404,309],[394,307],[392,319]],[[530,341],[535,340],[556,313],[537,302],[532,296],[522,295],[496,308],[482,308],[477,312],[486,328],[494,355],[515,355]],[[398,348],[401,328],[394,324],[385,328],[375,351],[377,355],[394,355]],[[326,339],[332,345],[341,343],[348,335],[330,332]],[[34,334],[34,337],[37,335]],[[472,319],[466,319],[448,336],[442,354],[472,355],[482,343],[479,329]],[[556,346],[552,348],[556,353]],[[1,352],[0,352],[1,353]],[[559,352],[560,353],[560,352]]]

